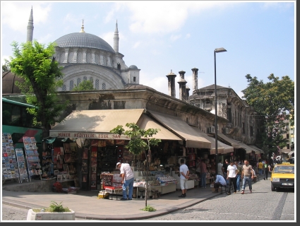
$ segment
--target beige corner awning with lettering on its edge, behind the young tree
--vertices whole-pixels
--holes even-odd
[[[60,138],[90,138],[130,140],[128,136],[109,133],[116,126],[135,123],[140,129],[159,129],[153,138],[182,141],[181,138],[143,114],[144,109],[105,109],[74,111],[50,130],[50,136]]]

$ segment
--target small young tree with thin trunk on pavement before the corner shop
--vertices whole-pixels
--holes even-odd
[[[125,146],[129,152],[134,155],[140,155],[141,153],[145,154],[146,159],[146,187],[145,187],[145,207],[147,207],[147,192],[148,192],[148,174],[149,174],[149,159],[151,156],[150,146],[157,146],[161,142],[160,139],[152,138],[159,129],[140,129],[135,123],[126,123],[126,126],[130,129],[125,131],[123,126],[116,126],[116,128],[109,131],[109,133],[115,133],[121,135],[124,133],[126,136],[129,136],[131,140],[128,142],[128,145]],[[146,153],[148,150],[148,153]]]

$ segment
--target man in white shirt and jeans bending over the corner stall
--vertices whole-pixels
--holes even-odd
[[[122,188],[123,188],[123,198],[121,201],[127,200],[127,192],[126,188],[128,187],[128,200],[132,199],[133,194],[133,181],[134,181],[134,174],[132,169],[128,163],[116,163],[116,168],[120,169],[120,174],[122,177]]]

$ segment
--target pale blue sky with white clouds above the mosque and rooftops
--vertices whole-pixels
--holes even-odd
[[[33,39],[45,45],[84,30],[114,47],[126,66],[140,69],[140,84],[169,94],[167,74],[179,71],[193,93],[215,84],[239,97],[246,75],[264,83],[268,76],[296,78],[296,1],[1,1],[1,63],[13,57],[11,43],[26,41],[33,9]],[[223,47],[227,52],[216,53]]]

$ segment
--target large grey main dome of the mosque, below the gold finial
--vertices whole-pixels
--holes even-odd
[[[75,32],[55,40],[59,47],[81,47],[102,49],[114,53],[114,49],[101,37],[85,32]]]

